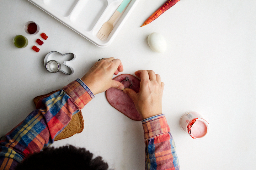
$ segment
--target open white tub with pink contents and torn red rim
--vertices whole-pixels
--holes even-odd
[[[185,112],[180,119],[182,131],[193,139],[204,137],[209,131],[208,124],[197,111]]]

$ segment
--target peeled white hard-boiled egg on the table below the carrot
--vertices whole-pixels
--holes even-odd
[[[148,44],[155,52],[164,52],[167,47],[165,38],[160,33],[151,33],[148,36]]]

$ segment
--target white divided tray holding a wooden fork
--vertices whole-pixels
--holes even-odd
[[[123,0],[28,0],[99,47],[109,46],[139,0],[131,0],[104,41],[96,35]]]

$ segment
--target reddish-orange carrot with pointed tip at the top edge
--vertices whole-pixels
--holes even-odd
[[[158,10],[156,10],[145,22],[142,26],[143,27],[150,22],[154,21],[156,18],[158,18],[162,13],[169,10],[172,6],[174,6],[178,1],[180,0],[168,0],[165,2],[164,5],[162,5]]]

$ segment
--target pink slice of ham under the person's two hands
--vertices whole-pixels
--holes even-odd
[[[121,74],[115,77],[113,80],[122,82],[125,88],[130,87],[130,89],[134,90],[136,93],[139,92],[140,80],[133,75]],[[122,90],[110,88],[106,91],[106,97],[111,106],[126,115],[128,118],[132,120],[142,120],[142,117],[135,108],[132,98],[130,98]]]

